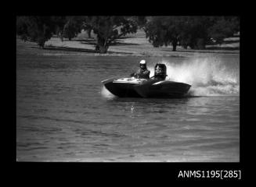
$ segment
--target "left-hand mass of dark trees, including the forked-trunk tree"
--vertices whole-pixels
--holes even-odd
[[[16,19],[16,34],[24,41],[37,42],[44,47],[53,34],[71,40],[81,30],[91,37],[96,34],[96,50],[106,53],[109,46],[126,34],[134,34],[138,25],[145,25],[143,16],[19,16]]]

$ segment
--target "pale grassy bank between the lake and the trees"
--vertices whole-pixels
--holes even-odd
[[[85,32],[78,34],[78,37],[68,41],[61,41],[59,37],[52,37],[45,43],[45,49],[41,50],[37,44],[20,41],[17,38],[17,54],[23,52],[37,55],[121,55],[121,56],[191,56],[209,54],[240,54],[240,38],[226,38],[222,45],[208,45],[204,50],[183,49],[178,46],[177,51],[172,51],[172,47],[153,48],[152,44],[146,39],[145,33],[139,30],[136,34],[130,34],[119,39],[116,44],[110,46],[106,54],[96,53],[96,37],[88,38]]]

